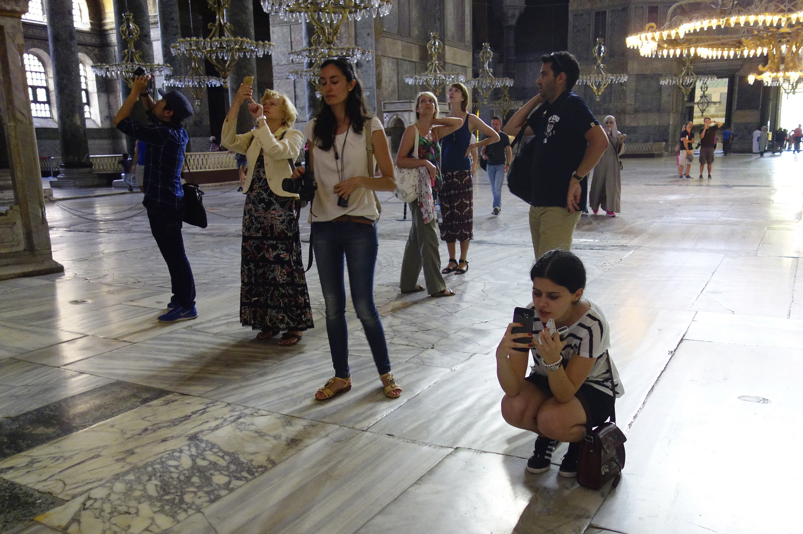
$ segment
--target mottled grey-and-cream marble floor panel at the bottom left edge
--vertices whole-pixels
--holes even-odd
[[[163,532],[335,429],[256,412],[120,473],[36,520],[63,532]]]

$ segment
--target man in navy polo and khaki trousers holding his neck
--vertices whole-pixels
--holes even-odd
[[[580,181],[608,148],[605,130],[585,100],[572,92],[580,77],[577,59],[560,51],[542,56],[541,62],[544,64],[537,80],[540,93],[504,127],[508,135],[515,136],[527,128],[524,135],[536,136],[530,202],[530,234],[536,259],[553,248],[568,251],[572,247],[574,228],[585,207],[580,206]]]

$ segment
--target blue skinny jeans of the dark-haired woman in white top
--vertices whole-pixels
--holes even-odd
[[[326,333],[335,376],[339,378],[350,376],[344,257],[349,267],[354,310],[365,329],[377,371],[381,375],[390,372],[385,331],[377,306],[373,304],[373,270],[377,264],[378,247],[376,226],[359,222],[312,223],[312,249],[326,303]]]

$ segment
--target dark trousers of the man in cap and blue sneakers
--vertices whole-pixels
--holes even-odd
[[[195,280],[190,261],[184,252],[184,238],[181,236],[181,212],[148,206],[148,220],[151,234],[156,239],[162,258],[170,271],[170,288],[174,303],[182,308],[195,305]]]

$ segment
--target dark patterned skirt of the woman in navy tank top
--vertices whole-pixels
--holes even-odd
[[[441,202],[441,239],[446,243],[474,238],[474,180],[471,170],[450,170],[443,173],[443,186],[438,192]]]

